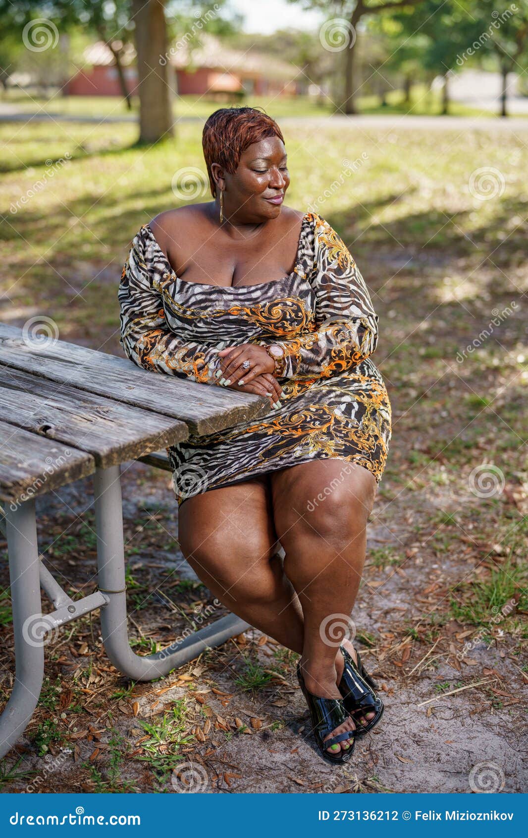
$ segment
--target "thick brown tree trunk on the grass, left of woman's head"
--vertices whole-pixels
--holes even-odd
[[[133,0],[132,12],[136,23],[140,142],[157,142],[174,136],[164,3]],[[167,59],[160,60],[160,56]]]

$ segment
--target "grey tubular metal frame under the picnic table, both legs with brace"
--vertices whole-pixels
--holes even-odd
[[[0,529],[8,540],[9,577],[13,605],[15,682],[0,716],[0,757],[22,736],[44,679],[45,635],[100,608],[105,650],[112,664],[134,680],[152,680],[193,660],[204,649],[225,643],[249,629],[235,614],[228,614],[156,654],[141,657],[129,644],[126,623],[125,549],[120,466],[96,469],[95,523],[100,590],[73,600],[60,587],[38,555],[34,499],[16,510],[1,510]],[[40,588],[55,610],[42,613]]]

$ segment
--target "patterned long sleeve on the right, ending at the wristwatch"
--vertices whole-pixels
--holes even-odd
[[[279,377],[330,378],[367,358],[377,346],[377,313],[356,262],[336,230],[315,214],[315,331],[277,340],[285,350]]]

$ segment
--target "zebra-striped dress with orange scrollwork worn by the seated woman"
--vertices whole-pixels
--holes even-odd
[[[167,448],[178,504],[321,458],[358,463],[379,483],[391,405],[370,357],[378,317],[356,262],[320,215],[305,214],[289,276],[237,287],[177,277],[142,225],[118,297],[120,343],[146,370],[218,385],[215,350],[271,343],[285,349],[281,406]]]

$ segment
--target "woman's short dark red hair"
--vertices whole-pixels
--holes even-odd
[[[213,198],[216,184],[211,164],[220,163],[230,174],[234,174],[246,148],[266,137],[279,137],[285,142],[274,119],[258,108],[222,107],[209,116],[203,127],[202,148]]]

